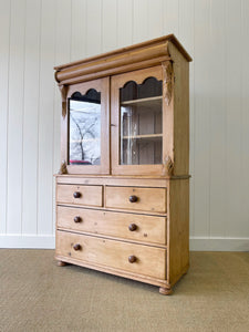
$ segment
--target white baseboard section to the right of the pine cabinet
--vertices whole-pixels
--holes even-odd
[[[249,251],[249,238],[190,237],[191,251]]]

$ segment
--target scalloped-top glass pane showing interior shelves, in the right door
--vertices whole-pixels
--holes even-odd
[[[162,164],[162,81],[129,81],[120,89],[121,165]]]

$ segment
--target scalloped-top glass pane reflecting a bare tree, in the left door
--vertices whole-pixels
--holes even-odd
[[[70,98],[69,164],[101,164],[101,93],[94,89]]]

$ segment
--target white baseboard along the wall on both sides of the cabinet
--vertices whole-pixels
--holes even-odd
[[[249,238],[191,237],[191,251],[249,251]],[[0,248],[54,249],[52,235],[0,235]]]

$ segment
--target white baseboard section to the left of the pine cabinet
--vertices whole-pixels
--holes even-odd
[[[52,235],[0,235],[0,248],[54,249],[55,237]]]

